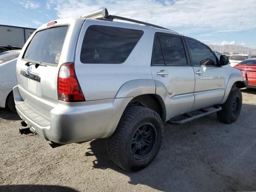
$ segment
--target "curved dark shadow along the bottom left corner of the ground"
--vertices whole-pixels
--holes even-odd
[[[1,192],[77,192],[69,187],[54,185],[0,185]]]

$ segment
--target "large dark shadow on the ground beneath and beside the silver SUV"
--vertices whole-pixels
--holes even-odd
[[[183,125],[164,124],[164,140],[156,159],[139,172],[116,166],[106,152],[106,139],[90,142],[85,156],[95,156],[93,168],[110,168],[129,176],[130,184],[161,191],[255,191],[256,105],[243,104],[234,124],[216,114]],[[254,127],[252,126],[254,125]]]

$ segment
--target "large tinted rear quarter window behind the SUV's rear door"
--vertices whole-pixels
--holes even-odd
[[[82,63],[123,63],[143,34],[142,30],[92,25],[82,43]]]

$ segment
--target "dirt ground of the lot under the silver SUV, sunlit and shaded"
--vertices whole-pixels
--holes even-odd
[[[158,156],[135,173],[111,162],[104,139],[53,149],[20,135],[19,117],[0,109],[0,191],[256,191],[256,90],[242,94],[234,124],[216,114],[165,124]]]

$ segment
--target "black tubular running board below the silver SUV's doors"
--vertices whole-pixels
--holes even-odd
[[[192,114],[186,113],[183,116],[188,117],[188,118],[183,119],[183,120],[177,120],[177,121],[175,121],[175,120],[168,120],[166,123],[179,125],[179,124],[183,124],[183,123],[192,121],[194,119],[200,118],[202,116],[206,116],[208,114],[215,113],[217,111],[221,111],[222,110],[221,106],[217,106],[217,105],[213,106],[212,108],[215,108],[215,109],[212,109],[212,110],[200,109],[200,110],[198,110],[200,112],[203,112],[202,114],[199,114],[199,115],[192,115]],[[174,118],[174,119],[176,119],[176,118]]]

